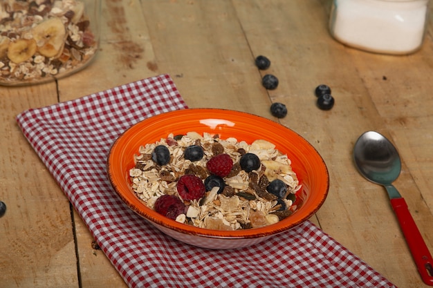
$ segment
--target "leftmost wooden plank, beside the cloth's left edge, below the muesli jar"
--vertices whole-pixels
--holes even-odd
[[[55,84],[0,87],[1,287],[78,287],[69,203],[15,116],[57,102]]]

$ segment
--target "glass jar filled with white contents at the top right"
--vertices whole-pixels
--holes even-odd
[[[428,0],[334,0],[329,28],[342,44],[405,55],[423,44]]]

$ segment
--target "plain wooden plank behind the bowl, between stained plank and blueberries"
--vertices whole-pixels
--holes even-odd
[[[145,0],[142,6],[156,65],[172,75],[190,107],[272,117],[231,1]]]

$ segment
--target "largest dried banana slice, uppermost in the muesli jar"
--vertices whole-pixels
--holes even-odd
[[[37,51],[45,57],[62,55],[66,30],[62,20],[50,18],[32,30],[33,39],[37,44]]]

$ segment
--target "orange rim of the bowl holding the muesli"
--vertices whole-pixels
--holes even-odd
[[[188,113],[189,116],[192,114],[194,115],[201,115],[201,114],[221,114],[221,115],[227,115],[227,113],[231,113],[232,115],[236,115],[237,117],[250,117],[252,119],[259,120],[261,122],[266,122],[267,124],[272,124],[273,126],[278,126],[280,129],[285,130],[286,132],[292,133],[295,137],[297,137],[297,140],[300,140],[303,142],[305,146],[308,147],[308,150],[312,153],[312,155],[315,157],[315,160],[320,164],[320,170],[321,173],[324,173],[326,186],[323,187],[323,192],[319,194],[319,197],[315,200],[315,208],[306,213],[302,218],[296,218],[294,217],[297,213],[294,213],[293,215],[288,216],[288,218],[291,218],[292,221],[288,221],[286,219],[277,222],[276,224],[267,225],[265,227],[258,227],[258,228],[252,228],[252,229],[241,229],[236,231],[221,231],[221,230],[213,230],[213,229],[203,229],[199,227],[194,227],[192,225],[183,224],[181,222],[176,222],[175,220],[171,220],[169,218],[166,218],[163,215],[160,215],[156,211],[149,209],[139,198],[133,193],[132,189],[130,191],[123,191],[122,186],[120,186],[115,180],[115,162],[116,157],[114,155],[116,152],[120,151],[122,149],[122,144],[125,142],[125,138],[129,136],[131,131],[133,129],[136,129],[140,126],[146,126],[149,122],[156,122],[158,120],[167,119],[167,117],[179,117],[180,115]],[[213,114],[212,114],[213,113]],[[220,117],[224,117],[221,116]],[[209,117],[210,119],[214,119],[215,117]],[[232,120],[232,119],[231,119]],[[229,121],[231,121],[229,120]],[[160,137],[166,137],[167,135],[161,135]],[[144,145],[146,143],[143,143]],[[138,151],[137,151],[138,153]],[[177,231],[179,233],[184,234],[190,234],[194,236],[201,236],[205,238],[224,238],[224,239],[245,239],[245,238],[261,238],[264,236],[270,236],[275,235],[278,233],[282,233],[283,231],[286,231],[288,229],[291,229],[293,227],[296,227],[297,225],[301,224],[302,222],[308,220],[308,218],[311,218],[311,216],[317,212],[320,207],[322,207],[322,204],[326,200],[326,197],[329,193],[329,171],[326,167],[326,164],[322,158],[322,156],[317,152],[317,150],[312,146],[308,141],[304,139],[300,134],[296,133],[295,131],[291,130],[291,128],[288,128],[279,122],[275,122],[272,119],[268,119],[266,117],[261,117],[259,115],[255,115],[248,112],[241,112],[241,111],[234,111],[230,109],[222,109],[222,108],[187,108],[187,109],[180,109],[176,111],[169,111],[165,113],[160,113],[158,115],[154,115],[151,117],[148,117],[147,119],[143,119],[140,122],[137,122],[136,124],[133,124],[129,126],[123,133],[121,133],[118,138],[113,142],[111,147],[109,148],[109,153],[107,157],[107,177],[109,179],[109,182],[111,183],[111,186],[113,187],[116,194],[120,197],[120,199],[127,204],[129,209],[140,215],[142,218],[149,222],[153,222],[152,224],[158,224],[162,227],[172,229],[174,231]],[[125,173],[127,171],[124,171]],[[296,173],[296,171],[295,171]],[[129,173],[128,173],[129,175]],[[302,184],[302,183],[300,183]],[[139,200],[141,202],[140,209],[136,207],[136,204],[133,202],[137,202]],[[293,221],[296,219],[295,221]],[[287,221],[286,221],[287,220]]]

